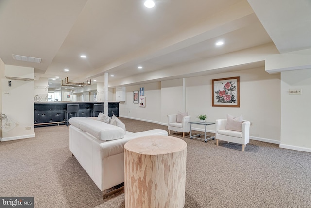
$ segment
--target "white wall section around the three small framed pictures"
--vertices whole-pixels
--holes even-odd
[[[139,107],[133,103],[133,91],[144,87],[145,106]],[[143,121],[160,123],[161,121],[161,83],[134,85],[126,87],[126,101],[119,104],[119,115],[121,117],[135,118]]]

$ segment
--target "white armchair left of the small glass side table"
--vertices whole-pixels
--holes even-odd
[[[176,132],[182,132],[183,137],[185,137],[185,132],[190,132],[190,115],[184,116],[182,119],[182,123],[178,123],[177,121],[177,115],[168,115],[169,117],[169,123],[168,123],[168,130],[169,134],[171,134],[170,130],[176,131]]]

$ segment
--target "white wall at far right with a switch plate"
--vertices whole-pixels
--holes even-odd
[[[289,89],[301,89],[290,95]],[[311,152],[311,69],[281,72],[280,147]]]

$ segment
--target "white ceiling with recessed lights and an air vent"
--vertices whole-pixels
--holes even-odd
[[[116,81],[271,42],[280,53],[311,48],[310,0],[156,0],[152,9],[143,2],[0,0],[0,58],[34,67],[37,77],[104,81],[108,72]],[[225,44],[216,47],[218,40]]]

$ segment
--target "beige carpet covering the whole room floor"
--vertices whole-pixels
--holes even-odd
[[[140,132],[166,126],[121,118]],[[181,137],[181,133],[172,136]],[[294,138],[293,138],[294,139]],[[310,208],[311,153],[251,141],[242,146],[183,140],[185,208]],[[33,196],[35,208],[123,208],[124,193],[102,192],[69,151],[69,127],[35,128],[35,138],[0,142],[0,196]]]

